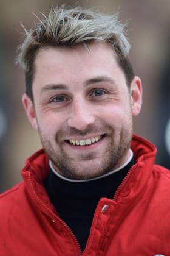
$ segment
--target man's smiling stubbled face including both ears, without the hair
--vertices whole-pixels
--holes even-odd
[[[33,96],[34,105],[24,94],[25,110],[61,175],[97,177],[127,160],[141,84],[137,77],[128,90],[109,44],[41,48]]]

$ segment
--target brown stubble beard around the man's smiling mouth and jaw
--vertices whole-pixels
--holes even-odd
[[[92,130],[96,130],[96,127],[92,127],[92,129],[90,128],[89,130],[87,129],[84,134],[88,134]],[[109,143],[103,157],[100,158],[100,160],[95,159],[95,161],[93,160],[96,156],[95,151],[82,155],[80,162],[76,160],[74,161],[73,158],[70,158],[70,156],[64,152],[59,138],[64,138],[66,131],[60,131],[57,133],[55,138],[56,146],[52,145],[51,141],[46,138],[46,135],[42,133],[40,128],[39,135],[44,151],[49,156],[53,167],[58,173],[68,179],[85,180],[106,174],[120,165],[124,154],[126,154],[131,145],[132,117],[128,120],[126,126],[121,127],[118,134],[116,130],[110,126],[104,127],[103,130],[106,130],[107,134],[109,134],[107,135],[109,136]],[[71,133],[69,132],[69,134]],[[80,135],[80,131],[77,135]],[[86,165],[83,165],[85,162]]]

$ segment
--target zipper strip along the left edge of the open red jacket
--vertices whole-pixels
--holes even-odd
[[[30,186],[33,190],[33,194],[36,197],[36,199],[44,206],[44,208],[46,208],[46,210],[54,217],[56,218],[61,224],[63,224],[64,227],[66,227],[66,229],[69,231],[70,235],[73,237],[73,241],[75,242],[77,248],[78,248],[78,254],[82,255],[82,251],[81,251],[81,247],[80,244],[78,243],[77,237],[74,235],[74,233],[72,232],[72,230],[70,229],[69,226],[67,226],[67,224],[59,217],[57,216],[43,201],[42,199],[39,198],[38,194],[36,194],[36,191],[34,189],[33,183],[32,183],[32,177],[30,177],[30,173],[29,173],[29,182],[30,182]],[[55,221],[54,221],[55,222]]]

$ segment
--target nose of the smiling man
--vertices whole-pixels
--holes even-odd
[[[68,125],[78,130],[84,130],[94,122],[93,106],[82,98],[76,99],[72,104],[72,108],[70,108]]]

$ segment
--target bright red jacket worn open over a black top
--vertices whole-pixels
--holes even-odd
[[[170,172],[154,165],[156,148],[134,136],[136,164],[114,199],[100,199],[83,255],[170,255]],[[59,218],[42,186],[49,159],[30,157],[24,182],[0,196],[0,255],[82,255],[72,231]],[[83,232],[83,230],[82,230]]]

